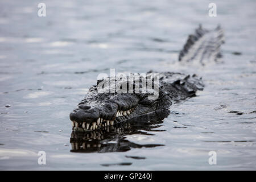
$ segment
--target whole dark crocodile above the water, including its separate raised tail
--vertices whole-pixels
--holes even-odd
[[[199,61],[201,65],[205,65],[209,61],[217,61],[221,57],[220,46],[222,43],[224,43],[224,32],[220,26],[213,30],[207,30],[200,25],[194,34],[188,36],[187,42],[180,51],[179,61],[184,63]],[[158,74],[158,80],[155,80],[154,74]],[[148,78],[152,78],[152,80]],[[155,81],[158,81],[157,85],[154,85]],[[143,90],[142,82],[154,86],[152,89],[147,89],[147,92],[135,92],[135,88]],[[149,71],[146,76],[137,77],[137,81],[136,79],[132,80],[133,92],[118,92],[123,85],[129,86],[130,83],[129,78],[123,79],[118,76],[97,80],[97,85],[93,85],[89,89],[84,100],[69,115],[73,131],[104,130],[106,127],[130,120],[141,121],[139,118],[142,115],[161,113],[174,102],[196,96],[197,90],[204,89],[202,78],[196,74]],[[99,92],[99,88],[105,84],[109,84],[110,88],[116,88],[119,85],[119,90]],[[152,99],[151,96],[154,94],[156,86],[158,96]],[[109,91],[110,89],[106,88],[105,90]]]

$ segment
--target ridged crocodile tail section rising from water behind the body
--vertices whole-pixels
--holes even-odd
[[[224,31],[220,26],[207,30],[199,25],[195,34],[189,35],[187,43],[179,54],[179,61],[199,61],[204,65],[221,57],[220,47],[224,43]]]

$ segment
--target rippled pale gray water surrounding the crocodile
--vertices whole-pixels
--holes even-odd
[[[0,169],[256,169],[255,1],[214,1],[217,17],[211,1],[43,2],[46,17],[37,1],[0,2]],[[224,28],[222,59],[177,63],[199,23]],[[69,113],[110,68],[197,73],[205,89],[121,137],[155,147],[72,152]]]

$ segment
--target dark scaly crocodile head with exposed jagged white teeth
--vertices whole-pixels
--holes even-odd
[[[92,131],[102,127],[115,125],[131,118],[137,118],[143,114],[152,113],[156,110],[165,109],[171,105],[170,98],[164,94],[162,89],[147,89],[142,92],[142,82],[144,77],[139,80],[122,79],[115,77],[115,81],[111,78],[100,80],[97,85],[93,85],[84,100],[82,100],[77,109],[73,110],[69,115],[72,121],[73,130],[75,131]],[[148,84],[148,79],[144,80]],[[154,85],[154,80],[151,80]],[[110,84],[109,84],[110,82]],[[111,84],[113,82],[113,84]],[[145,83],[144,82],[144,83]],[[123,86],[127,86],[129,90],[130,84],[133,93],[122,93]],[[108,84],[108,86],[104,86]],[[115,88],[114,93],[109,92],[111,88]],[[135,88],[141,88],[141,91],[135,93]],[[150,96],[155,94],[155,98]]]

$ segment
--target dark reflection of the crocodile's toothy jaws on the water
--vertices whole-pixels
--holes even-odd
[[[126,136],[154,135],[158,130],[163,119],[168,117],[170,111],[162,110],[161,112],[142,115],[140,118],[131,119],[119,125],[106,126],[101,130],[76,132],[72,131],[70,143],[71,152],[125,152],[131,148],[151,148],[164,146],[163,144],[137,144],[130,142]],[[152,132],[151,132],[152,131]]]

